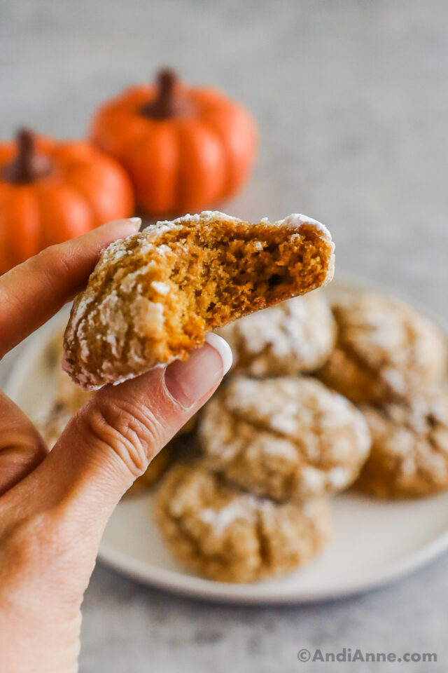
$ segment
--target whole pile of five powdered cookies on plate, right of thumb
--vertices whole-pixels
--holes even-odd
[[[328,538],[328,497],[448,487],[447,348],[391,297],[314,292],[221,329],[234,367],[174,465],[155,517],[174,556],[214,580],[291,571]]]

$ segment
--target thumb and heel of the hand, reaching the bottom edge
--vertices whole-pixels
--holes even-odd
[[[39,669],[76,669],[79,607],[107,519],[231,362],[228,344],[212,334],[186,362],[107,386],[73,417],[38,467],[1,496],[0,571],[12,592],[6,639],[14,648],[17,634],[25,633],[31,651],[42,653],[42,634],[44,643],[57,641],[50,667],[43,662]]]

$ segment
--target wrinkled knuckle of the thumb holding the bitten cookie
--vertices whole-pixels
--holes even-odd
[[[162,426],[155,415],[125,400],[95,399],[82,418],[87,437],[112,450],[134,477],[144,473],[162,443]]]

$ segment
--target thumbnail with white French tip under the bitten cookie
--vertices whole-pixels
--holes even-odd
[[[218,334],[208,334],[205,344],[192,351],[185,362],[177,360],[165,369],[169,395],[189,409],[215,388],[232,365],[232,351]]]

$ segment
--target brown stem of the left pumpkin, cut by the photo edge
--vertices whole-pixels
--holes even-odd
[[[51,172],[48,157],[36,153],[34,133],[28,128],[20,128],[15,135],[18,153],[14,161],[3,168],[2,177],[7,182],[29,184]]]

